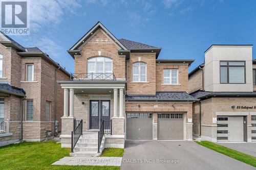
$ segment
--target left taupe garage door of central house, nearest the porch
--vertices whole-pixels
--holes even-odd
[[[152,113],[126,114],[126,139],[152,139],[153,115]]]

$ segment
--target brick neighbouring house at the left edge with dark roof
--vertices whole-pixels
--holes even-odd
[[[49,137],[57,135],[63,112],[57,80],[69,77],[37,47],[24,47],[0,33],[0,145],[44,140],[47,131]]]

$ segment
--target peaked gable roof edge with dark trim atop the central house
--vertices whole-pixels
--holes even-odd
[[[77,50],[78,47],[86,41],[95,31],[101,28],[106,34],[108,34],[123,50],[127,50],[127,48],[108,30],[105,26],[102,25],[100,21],[96,23],[93,28],[91,28],[82,38],[80,38],[71,48],[69,51]],[[69,52],[68,51],[68,52]]]

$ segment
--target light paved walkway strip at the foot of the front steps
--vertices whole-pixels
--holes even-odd
[[[52,165],[121,166],[122,157],[63,157]]]

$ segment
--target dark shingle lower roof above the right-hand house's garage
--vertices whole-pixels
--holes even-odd
[[[194,96],[197,99],[204,99],[211,96],[256,96],[256,92],[210,92],[199,90],[190,95]]]

